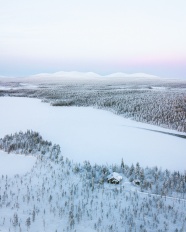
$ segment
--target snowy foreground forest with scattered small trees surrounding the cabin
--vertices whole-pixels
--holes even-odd
[[[59,145],[26,131],[0,139],[0,149],[33,155],[24,176],[0,177],[4,231],[185,231],[186,173],[157,167],[74,163]],[[123,176],[108,184],[111,172]],[[141,181],[140,186],[133,184]]]

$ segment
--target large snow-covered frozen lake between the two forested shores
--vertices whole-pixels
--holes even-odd
[[[91,107],[52,107],[38,99],[1,97],[0,108],[0,137],[31,129],[77,162],[119,164],[123,158],[128,165],[185,170],[185,139],[136,127],[171,130]]]

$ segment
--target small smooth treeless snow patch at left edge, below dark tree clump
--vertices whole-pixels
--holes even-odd
[[[0,176],[23,175],[29,172],[36,162],[36,157],[18,154],[8,154],[0,151]]]

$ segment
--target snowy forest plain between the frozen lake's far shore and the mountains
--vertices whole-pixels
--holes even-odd
[[[32,82],[31,82],[32,83]],[[186,83],[159,81],[97,81],[36,83],[25,89],[0,90],[0,96],[40,98],[53,106],[93,106],[125,118],[186,132]]]

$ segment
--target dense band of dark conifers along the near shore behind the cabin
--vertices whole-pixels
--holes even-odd
[[[76,169],[77,170],[77,167]],[[90,180],[90,186],[93,184],[103,184],[111,172],[122,173],[130,182],[135,179],[140,180],[140,191],[158,194],[161,196],[178,196],[185,198],[186,194],[186,172],[171,172],[162,170],[158,167],[141,167],[137,162],[131,166],[124,164],[122,159],[121,165],[91,165],[90,162],[84,162],[78,170],[86,172],[87,179]],[[93,181],[93,182],[92,182]]]

